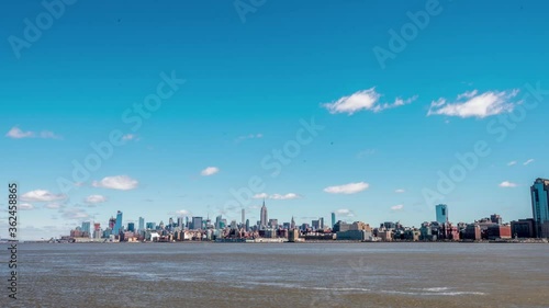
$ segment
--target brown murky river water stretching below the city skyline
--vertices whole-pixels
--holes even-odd
[[[18,299],[2,286],[0,307],[549,307],[549,244],[20,244],[18,258]]]

